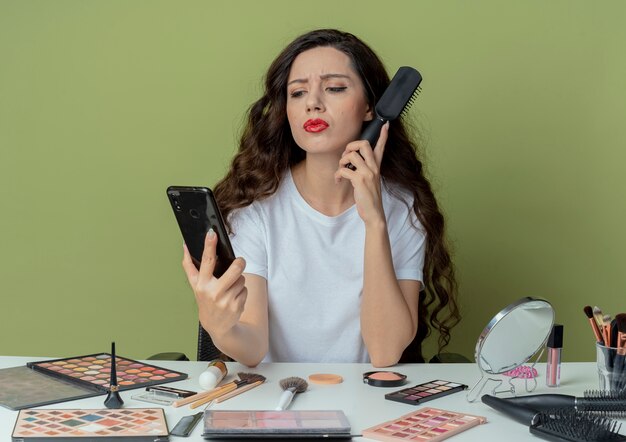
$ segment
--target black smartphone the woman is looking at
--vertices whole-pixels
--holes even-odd
[[[217,261],[213,274],[219,278],[235,260],[235,253],[228,239],[226,225],[208,187],[170,186],[167,197],[176,216],[178,227],[197,269],[200,268],[204,239],[209,229],[217,234]]]

